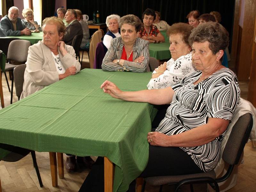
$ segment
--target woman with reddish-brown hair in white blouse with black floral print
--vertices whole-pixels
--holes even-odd
[[[191,46],[188,37],[193,27],[186,23],[175,23],[167,31],[172,59],[164,62],[152,73],[148,89],[163,89],[178,83],[195,71],[192,65]]]

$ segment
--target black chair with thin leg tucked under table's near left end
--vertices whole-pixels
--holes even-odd
[[[12,145],[7,145],[0,143],[0,148],[9,151],[10,153],[4,156],[3,158],[0,159],[0,161],[7,161],[7,162],[16,162],[22,159],[23,157],[27,156],[29,153],[31,153],[32,159],[33,159],[33,165],[36,169],[36,175],[40,184],[40,187],[43,187],[43,182],[39,173],[39,169],[36,163],[36,153],[33,150],[25,149],[25,148],[20,148],[20,147],[15,147]],[[1,184],[0,184],[1,186]],[[0,188],[1,191],[1,188]]]

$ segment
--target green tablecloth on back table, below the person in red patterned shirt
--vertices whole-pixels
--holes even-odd
[[[150,43],[148,50],[150,57],[154,57],[158,60],[171,59],[171,53],[169,51],[170,43]]]

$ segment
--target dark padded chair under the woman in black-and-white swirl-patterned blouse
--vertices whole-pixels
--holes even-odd
[[[239,117],[236,124],[233,126],[222,154],[222,159],[229,164],[228,171],[224,176],[216,179],[216,174],[212,170],[210,172],[189,175],[148,177],[144,179],[145,182],[142,191],[144,191],[146,182],[148,182],[150,185],[161,185],[160,191],[162,191],[162,185],[164,184],[176,185],[175,192],[184,184],[190,184],[190,190],[193,192],[193,184],[209,183],[215,191],[219,192],[218,183],[227,180],[234,166],[239,163],[244,146],[252,130],[252,123],[252,115],[247,113]]]

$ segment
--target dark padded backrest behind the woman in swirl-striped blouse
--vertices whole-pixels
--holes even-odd
[[[236,124],[233,126],[222,155],[223,160],[228,164],[238,164],[245,143],[252,130],[252,123],[252,115],[246,113],[239,117]]]

